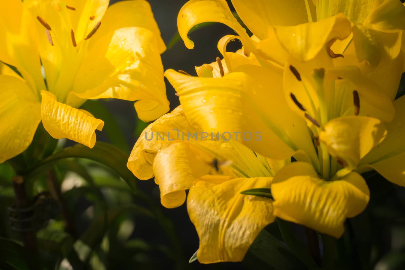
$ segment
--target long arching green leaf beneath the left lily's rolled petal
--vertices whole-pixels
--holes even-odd
[[[106,142],[96,142],[96,145],[90,149],[87,146],[77,144],[72,147],[66,147],[61,151],[47,157],[38,166],[29,173],[29,177],[35,177],[47,171],[55,165],[60,159],[69,157],[81,157],[91,159],[113,169],[124,179],[133,192],[136,192],[136,177],[126,167],[128,156],[118,147]]]

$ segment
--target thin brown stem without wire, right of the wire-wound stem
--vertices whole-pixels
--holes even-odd
[[[76,236],[75,223],[73,222],[72,216],[69,213],[68,207],[66,205],[66,201],[62,196],[62,190],[60,189],[60,184],[59,184],[58,180],[56,179],[55,171],[49,170],[47,176],[48,176],[47,183],[48,183],[49,191],[51,192],[53,198],[58,200],[58,202],[61,206],[62,216],[66,223],[66,229],[72,236],[75,237]]]

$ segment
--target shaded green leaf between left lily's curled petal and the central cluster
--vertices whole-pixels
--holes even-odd
[[[114,115],[110,113],[102,102],[99,100],[87,100],[81,108],[89,111],[94,117],[104,121],[102,132],[107,135],[111,144],[125,153],[129,153],[129,146],[122,132],[122,128],[120,128],[117,119],[115,119]]]

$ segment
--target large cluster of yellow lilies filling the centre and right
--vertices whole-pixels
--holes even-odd
[[[361,173],[376,170],[405,186],[405,6],[399,0],[190,0],[177,25],[206,21],[237,35],[218,43],[223,59],[198,77],[166,70],[181,106],[146,132],[261,132],[262,140],[148,141],[128,168],[151,179],[162,205],[187,208],[202,263],[241,261],[275,217],[339,238],[370,192]],[[238,39],[243,47],[228,52]],[[231,161],[229,166],[218,166]],[[293,160],[293,162],[291,162]],[[273,199],[243,195],[271,189]]]

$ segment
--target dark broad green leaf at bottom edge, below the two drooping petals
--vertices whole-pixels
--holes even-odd
[[[301,261],[277,238],[262,230],[243,259],[249,269],[300,270]]]

